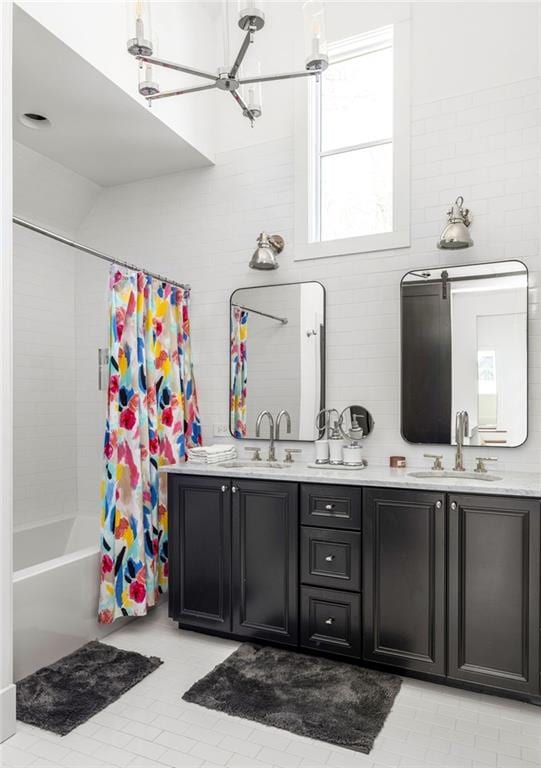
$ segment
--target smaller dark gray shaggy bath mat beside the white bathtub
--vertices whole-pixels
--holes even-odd
[[[93,640],[17,683],[17,719],[65,736],[160,664]]]

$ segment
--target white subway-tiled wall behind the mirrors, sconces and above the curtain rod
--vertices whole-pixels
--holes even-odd
[[[292,138],[221,154],[212,168],[101,193],[79,239],[193,286],[194,358],[207,442],[214,440],[213,424],[228,421],[230,293],[239,286],[320,280],[327,289],[328,405],[361,403],[372,411],[369,461],[384,464],[390,454],[403,453],[411,464],[423,464],[427,446],[400,436],[400,279],[414,268],[520,259],[530,270],[529,438],[520,448],[490,452],[501,468],[539,471],[539,89],[532,78],[413,107],[412,242],[405,249],[295,262]],[[438,251],[445,211],[459,194],[474,214],[475,247]],[[287,242],[280,269],[270,275],[248,269],[262,229]],[[310,457],[312,447],[304,448]],[[449,463],[452,449],[444,453]]]

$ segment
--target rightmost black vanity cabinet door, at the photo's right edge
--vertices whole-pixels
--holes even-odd
[[[537,693],[539,501],[449,502],[448,675]]]

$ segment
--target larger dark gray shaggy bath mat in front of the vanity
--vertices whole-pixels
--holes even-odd
[[[368,754],[400,683],[387,672],[247,643],[182,698]]]

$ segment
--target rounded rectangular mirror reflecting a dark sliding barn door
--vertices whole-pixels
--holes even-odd
[[[401,285],[402,434],[513,447],[527,437],[528,272],[519,261],[409,272]]]

